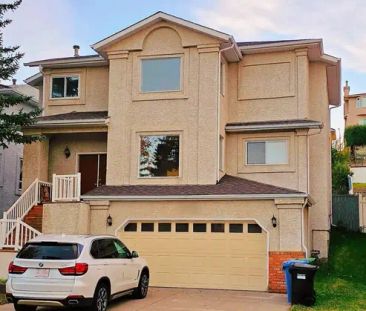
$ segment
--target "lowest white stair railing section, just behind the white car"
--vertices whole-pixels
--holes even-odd
[[[20,219],[0,219],[0,247],[20,250],[25,243],[34,239],[41,232],[27,225]]]

